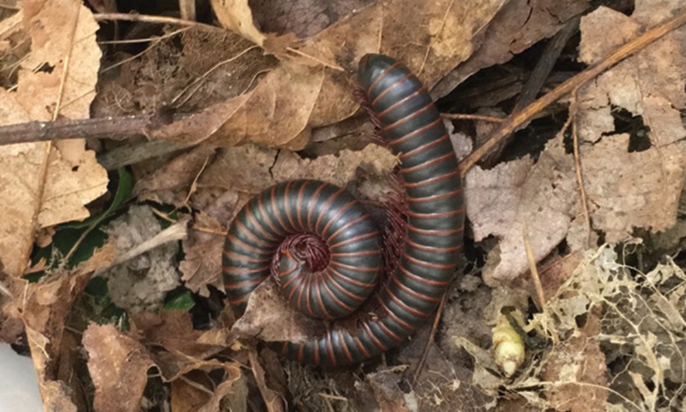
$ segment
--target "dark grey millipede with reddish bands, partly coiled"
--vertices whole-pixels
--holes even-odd
[[[460,260],[462,179],[429,93],[403,63],[382,54],[364,56],[358,77],[372,119],[401,161],[405,242],[395,273],[378,290],[377,316],[279,346],[303,363],[357,363],[405,341],[436,310]],[[376,288],[381,238],[362,204],[340,187],[308,180],[274,185],[248,201],[228,229],[222,258],[228,301],[242,314],[252,291],[274,275],[303,312],[345,317]]]

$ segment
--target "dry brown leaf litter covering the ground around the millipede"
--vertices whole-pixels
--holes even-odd
[[[211,3],[228,31],[200,25],[139,29],[150,34],[143,53],[110,54],[102,63],[95,19],[80,2],[24,2],[0,23],[11,27],[2,44],[12,47],[3,53],[18,68],[7,78],[16,87],[2,92],[4,124],[51,119],[56,111],[88,117],[89,108],[104,117],[154,113],[171,104],[177,114],[147,136],[171,139],[168,152],[131,166],[134,197],[147,205],[120,200],[99,220],[115,227],[144,209],[145,235],[125,226],[122,234],[133,236],[126,248],[115,251],[110,234],[110,242],[75,268],[31,262],[34,236],[45,227],[41,244],[47,244],[60,233],[55,225],[88,216],[84,205],[107,185],[92,148],[116,145],[89,142],[86,149],[83,141],[60,141],[2,148],[0,190],[8,192],[0,198],[10,218],[0,223],[0,336],[16,342],[25,334],[46,410],[135,411],[161,404],[179,411],[683,407],[686,277],[678,253],[686,30],[670,32],[578,87],[564,102],[568,122],[556,126],[541,151],[493,168],[477,165],[466,174],[468,237],[476,243],[466,256],[469,273],[447,295],[434,344],[427,347],[427,325],[364,369],[318,371],[281,365],[269,350],[255,350],[252,337],[296,341],[321,327],[292,319],[270,284],[253,295],[238,323],[217,298],[226,222],[250,197],[290,179],[348,187],[376,216],[383,214],[386,176],[397,159],[380,146],[341,150],[345,144],[328,140],[338,137],[334,130],[344,119],[359,117],[351,90],[362,54],[397,56],[436,97],[447,96],[484,67],[517,60],[591,5],[494,0],[419,7],[394,0],[327,7],[297,1],[279,9],[266,1]],[[596,8],[581,20],[577,62],[602,61],[679,7],[678,1],[636,0],[623,12]],[[29,24],[36,21],[41,24]],[[49,35],[72,21],[78,24],[71,40]],[[512,90],[505,100],[521,89]],[[479,107],[480,113],[508,113],[502,102],[492,100],[494,107]],[[483,122],[475,131],[452,123],[460,151],[471,147],[469,137],[488,134]],[[352,130],[353,140],[366,139],[365,127],[353,123],[359,128]],[[318,138],[318,155],[292,151],[305,148],[314,131],[326,136]],[[187,236],[183,231],[120,262],[126,249],[161,233],[150,210],[163,222],[191,220]],[[182,252],[174,249],[180,238]],[[110,284],[106,296],[125,315],[114,317],[114,325],[98,325],[104,319],[87,314],[84,299],[103,304],[103,296],[89,295],[92,278],[113,264],[126,268],[129,280]],[[158,264],[167,265],[164,287],[153,275]],[[540,266],[540,290],[530,274],[534,264]],[[21,279],[30,265],[46,272],[40,282]],[[193,308],[166,307],[178,284],[193,293]],[[137,293],[127,294],[131,288]],[[511,377],[499,371],[490,347],[497,319],[508,319],[504,306],[528,314],[516,323],[526,355]],[[413,370],[416,365],[425,367]],[[83,377],[75,382],[69,376]]]

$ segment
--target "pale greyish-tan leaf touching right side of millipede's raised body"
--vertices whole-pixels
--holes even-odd
[[[524,232],[537,262],[567,236],[578,198],[573,159],[558,136],[536,163],[525,157],[491,170],[473,168],[465,197],[475,240],[500,239],[488,255],[484,280],[493,285],[514,279],[529,268]]]

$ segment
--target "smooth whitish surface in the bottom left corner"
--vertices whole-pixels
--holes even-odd
[[[43,412],[31,358],[0,343],[0,412]]]

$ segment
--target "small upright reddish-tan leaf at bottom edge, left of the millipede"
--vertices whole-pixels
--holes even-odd
[[[145,347],[113,325],[94,324],[84,332],[83,345],[95,385],[95,410],[139,411],[147,370],[154,366]]]

